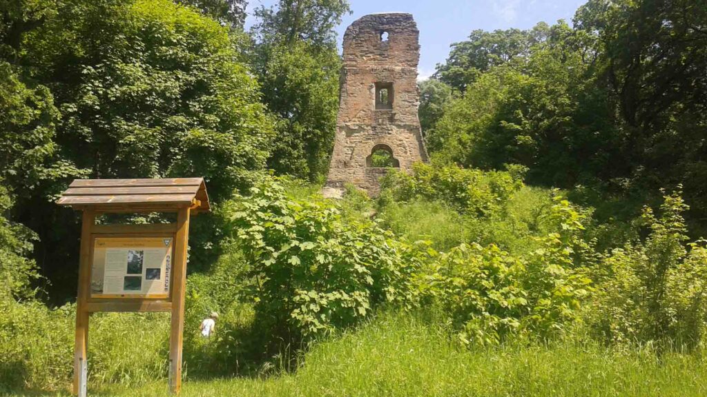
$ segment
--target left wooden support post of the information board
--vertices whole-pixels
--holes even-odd
[[[78,297],[76,300],[76,333],[74,340],[74,394],[86,396],[88,360],[88,310],[86,301],[90,294],[90,244],[95,213],[88,209],[81,218],[81,257],[78,261]]]

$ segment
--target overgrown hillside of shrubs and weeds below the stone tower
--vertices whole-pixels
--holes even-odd
[[[629,242],[600,249],[597,241],[616,230],[560,191],[528,188],[522,170],[419,165],[411,175],[392,172],[383,186],[376,201],[354,188],[332,201],[316,187],[262,177],[250,194],[227,201],[217,214],[226,220],[226,254],[209,273],[187,279],[187,379],[297,372],[317,362],[317,341],[355,335],[381,310],[407,312],[396,315],[402,321],[423,314],[419,329],[438,340],[429,343],[445,343],[460,360],[510,347],[530,357],[523,350],[531,346],[532,354],[553,356],[564,343],[579,350],[556,365],[609,354],[635,360],[636,377],[659,356],[700,362],[707,248],[684,244],[677,194],[623,225]],[[71,374],[73,308],[3,302],[3,383],[62,388]],[[216,336],[204,339],[197,325],[212,310],[221,318]],[[102,347],[91,358],[94,386],[166,376],[167,316],[97,314],[92,324],[92,341]],[[381,332],[407,331],[387,323]],[[392,368],[409,365],[392,360]]]

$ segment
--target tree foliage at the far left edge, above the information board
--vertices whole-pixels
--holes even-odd
[[[52,1],[0,4],[0,179],[21,200],[42,194],[57,179],[78,175],[56,158],[59,111],[52,93],[27,76],[20,63],[25,33],[56,12]]]

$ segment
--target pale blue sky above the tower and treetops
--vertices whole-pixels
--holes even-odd
[[[435,71],[453,42],[465,40],[474,29],[495,30],[532,28],[540,21],[549,24],[564,19],[571,23],[575,11],[587,0],[349,0],[353,14],[337,28],[339,46],[344,30],[354,20],[369,13],[403,11],[412,13],[420,30],[420,78]],[[275,0],[250,0],[248,11]],[[246,26],[252,25],[248,18]]]

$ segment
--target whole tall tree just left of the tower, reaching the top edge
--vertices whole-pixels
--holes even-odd
[[[348,12],[345,0],[281,0],[255,11],[253,64],[279,117],[268,161],[277,172],[313,181],[329,166],[341,67],[334,28]]]

